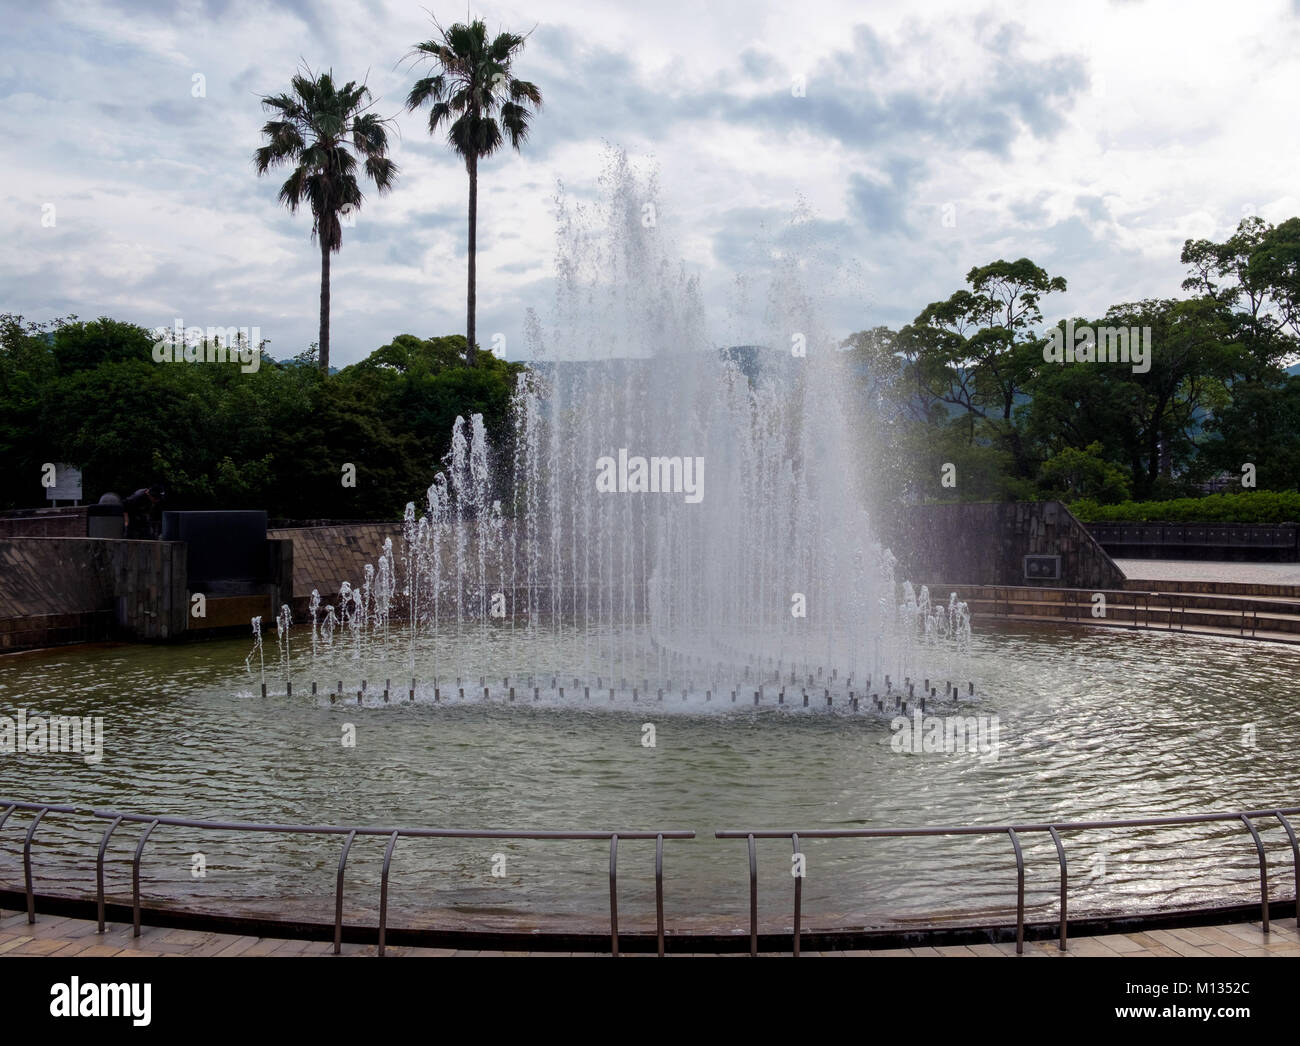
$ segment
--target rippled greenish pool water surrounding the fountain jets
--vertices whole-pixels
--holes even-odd
[[[854,716],[842,699],[831,713],[815,700],[807,711],[777,708],[771,691],[758,709],[719,695],[706,706],[696,693],[685,704],[677,695],[632,706],[620,695],[611,708],[607,696],[584,703],[568,694],[560,704],[543,691],[533,703],[523,690],[508,703],[495,678],[484,703],[474,699],[477,678],[467,678],[463,702],[446,686],[434,703],[421,682],[408,703],[410,680],[394,680],[389,706],[373,693],[364,707],[355,698],[332,706],[324,691],[338,677],[355,686],[360,667],[313,668],[306,650],[295,660],[292,696],[272,681],[264,700],[243,669],[247,646],[8,660],[0,715],[104,716],[105,748],[96,765],[72,754],[0,755],[0,795],[221,820],[694,829],[697,841],[666,843],[668,924],[699,917],[736,928],[748,919],[745,845],[712,839],[715,829],[1065,821],[1300,799],[1300,651],[1268,644],[1115,630],[978,635],[958,677],[975,682],[976,699],[961,712],[998,717],[996,760],[901,754],[888,716]],[[473,655],[460,652],[465,661]],[[313,676],[322,691],[315,696]],[[642,743],[647,722],[654,747]],[[341,743],[348,725],[355,747]],[[6,884],[21,882],[26,824],[14,815],[0,833]],[[1286,838],[1277,825],[1260,828],[1275,897],[1290,897]],[[48,817],[34,846],[38,878],[92,889],[101,829]],[[109,851],[110,895],[129,891],[134,839],[124,830]],[[1052,917],[1054,851],[1045,837],[1024,842],[1031,916]],[[1075,913],[1257,897],[1254,847],[1240,826],[1072,833],[1066,846]],[[337,837],[159,829],[143,864],[144,895],[211,906],[237,898],[250,908],[300,907],[328,919],[338,848]],[[966,919],[1014,904],[1006,839],[807,841],[802,848],[809,928]],[[759,845],[760,916],[772,929],[790,921],[788,851],[783,841]],[[205,864],[202,878],[195,854]],[[351,912],[373,916],[382,854],[384,839],[355,845]],[[476,925],[603,917],[607,854],[603,843],[403,841],[390,920],[420,921],[433,911]],[[629,929],[653,920],[653,842],[623,843],[620,923]]]

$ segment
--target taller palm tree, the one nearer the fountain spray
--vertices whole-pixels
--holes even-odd
[[[426,101],[429,134],[447,123],[447,144],[464,159],[469,173],[469,285],[465,304],[465,357],[474,363],[474,255],[478,239],[478,161],[500,148],[504,138],[517,151],[528,138],[533,113],[541,107],[542,92],[528,81],[511,77],[511,62],[523,51],[525,36],[500,32],[488,40],[488,27],[480,19],[458,22],[443,29],[434,21],[438,39],[416,44],[408,57],[429,58],[437,73],[416,81],[407,95],[407,110]],[[497,116],[500,123],[497,122]],[[504,129],[504,136],[502,130]]]

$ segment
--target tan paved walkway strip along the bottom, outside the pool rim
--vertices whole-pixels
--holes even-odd
[[[142,926],[138,938],[131,928],[121,923],[107,924],[105,933],[96,933],[96,924],[84,919],[36,916],[35,925],[27,924],[27,915],[0,913],[0,958],[20,955],[64,956],[130,956],[130,955],[330,955],[334,945],[328,941],[285,941],[273,937],[237,937],[203,930],[176,930],[161,926]],[[1235,923],[1225,926],[1196,926],[1174,930],[1145,930],[1113,933],[1098,937],[1078,937],[1069,942],[1067,952],[1061,952],[1054,941],[1030,941],[1024,955],[1098,956],[1300,956],[1300,930],[1295,920],[1273,924],[1265,936],[1258,923]],[[343,945],[344,955],[374,955],[374,945]],[[454,949],[424,949],[389,946],[389,955],[533,955],[577,956],[601,952],[555,951],[458,951]],[[803,955],[1014,955],[1015,945],[949,945],[944,947],[885,949],[878,951],[805,951]],[[736,958],[744,954],[733,952]],[[637,958],[637,956],[629,956]],[[670,955],[670,958],[677,958]]]

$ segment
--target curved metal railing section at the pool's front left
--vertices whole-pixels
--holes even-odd
[[[36,921],[35,891],[31,876],[31,841],[40,826],[42,819],[47,813],[72,813],[108,820],[104,836],[99,843],[99,854],[95,860],[95,902],[99,916],[99,932],[104,932],[104,855],[108,851],[109,839],[113,832],[124,821],[144,825],[135,854],[131,859],[131,921],[133,936],[140,936],[140,858],[150,836],[160,826],[192,828],[212,832],[268,832],[291,836],[343,836],[343,848],[338,858],[338,874],[334,886],[334,954],[338,955],[343,945],[343,871],[347,865],[352,842],[358,836],[382,836],[387,838],[387,847],[384,851],[384,872],[380,878],[380,924],[378,924],[378,954],[384,955],[385,939],[387,936],[387,908],[389,908],[389,872],[393,865],[393,852],[400,838],[421,839],[543,839],[543,841],[581,841],[601,839],[610,843],[610,950],[616,956],[619,954],[619,882],[618,860],[620,839],[654,839],[655,841],[655,936],[658,939],[659,955],[664,954],[663,932],[663,841],[664,839],[693,839],[694,832],[498,832],[456,828],[376,828],[376,826],[346,826],[346,825],[282,825],[257,824],[248,821],[208,821],[192,817],[166,817],[150,813],[122,813],[116,810],[98,810],[87,807],[60,806],[56,803],[25,803],[16,799],[0,799],[0,829],[4,828],[9,816],[14,811],[34,812],[31,824],[22,845],[23,887],[27,899],[27,923]]]

